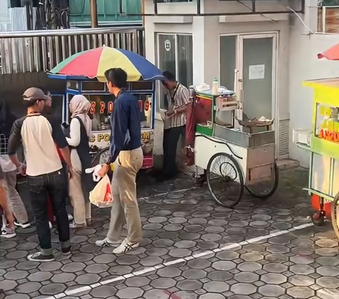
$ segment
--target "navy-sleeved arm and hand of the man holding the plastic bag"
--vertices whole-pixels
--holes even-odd
[[[114,161],[119,156],[119,153],[124,146],[127,136],[127,131],[129,128],[129,113],[126,112],[124,107],[120,103],[114,105],[113,115],[111,117],[111,146],[109,148],[109,160],[106,164],[102,165],[101,170],[98,172],[100,177],[104,177],[108,170],[109,164],[114,163]]]

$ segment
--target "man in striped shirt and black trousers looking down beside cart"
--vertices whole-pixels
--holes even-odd
[[[177,145],[185,131],[186,110],[189,104],[189,90],[177,82],[169,71],[164,71],[162,75],[165,77],[162,83],[168,90],[168,110],[165,113],[162,143],[164,163],[162,174],[157,176],[158,182],[172,179],[177,175]]]

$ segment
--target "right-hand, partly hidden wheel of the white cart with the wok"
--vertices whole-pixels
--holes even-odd
[[[271,172],[270,180],[245,186],[249,194],[258,199],[268,199],[268,197],[271,197],[277,191],[279,184],[279,169],[276,163]]]

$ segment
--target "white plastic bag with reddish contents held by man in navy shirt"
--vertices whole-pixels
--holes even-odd
[[[90,202],[99,208],[108,208],[113,204],[112,186],[108,175],[102,177],[90,192]]]

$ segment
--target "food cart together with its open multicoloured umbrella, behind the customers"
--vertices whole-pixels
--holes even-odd
[[[76,53],[58,64],[47,76],[66,81],[62,106],[63,122],[70,122],[69,105],[74,95],[84,95],[91,103],[93,164],[105,163],[110,140],[109,117],[114,109],[114,95],[107,90],[105,71],[121,67],[127,73],[126,90],[138,98],[141,119],[143,169],[153,168],[155,119],[155,80],[162,78],[156,66],[138,54],[110,47]]]

